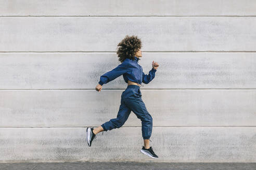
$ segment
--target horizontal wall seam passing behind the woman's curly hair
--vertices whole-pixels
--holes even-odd
[[[0,53],[116,53],[117,51],[0,51]],[[256,51],[143,51],[147,53],[170,53],[170,52],[256,52]]]

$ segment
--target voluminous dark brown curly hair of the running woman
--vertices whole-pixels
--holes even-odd
[[[128,36],[118,44],[118,60],[122,63],[126,58],[135,60],[135,54],[142,48],[142,41],[137,36]],[[140,60],[140,59],[139,59]]]

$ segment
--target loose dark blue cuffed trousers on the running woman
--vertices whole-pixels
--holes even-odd
[[[152,133],[153,119],[142,101],[142,93],[137,85],[127,86],[125,91],[123,91],[117,118],[110,119],[108,122],[101,124],[104,131],[121,127],[128,119],[131,111],[142,121],[143,139],[149,139]]]

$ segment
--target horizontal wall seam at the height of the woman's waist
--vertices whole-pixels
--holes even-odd
[[[96,91],[95,89],[0,89],[0,91],[7,91],[7,90],[92,90],[92,91]],[[104,90],[125,90],[124,89],[104,89]],[[151,88],[151,89],[146,89],[146,88],[140,88],[140,90],[256,90],[256,88],[243,88],[243,89],[239,89],[239,88],[234,88],[234,89],[226,89],[226,88],[198,88],[198,89],[157,89],[157,88]]]

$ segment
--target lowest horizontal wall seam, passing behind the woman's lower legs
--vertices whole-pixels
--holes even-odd
[[[0,128],[86,128],[86,127],[97,127],[97,126],[0,126]],[[142,127],[140,126],[122,126],[124,127]],[[153,126],[153,127],[256,127],[255,126]]]

